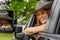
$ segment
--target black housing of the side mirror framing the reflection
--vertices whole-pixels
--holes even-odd
[[[4,11],[6,11],[8,13],[8,16],[10,18],[12,18],[12,20],[8,20],[9,24],[11,24],[11,28],[8,28],[8,29],[3,29],[1,26],[0,26],[0,33],[13,33],[13,30],[14,30],[14,11],[12,10],[0,10],[0,13],[5,13]],[[17,22],[16,22],[17,23]]]

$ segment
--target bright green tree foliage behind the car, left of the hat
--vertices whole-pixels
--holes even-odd
[[[24,0],[12,0],[9,9],[14,10],[15,19],[18,19],[20,16],[25,16],[26,18],[21,22],[21,24],[25,24],[31,16],[28,12],[35,10],[36,2],[37,0],[29,0],[29,2]]]

